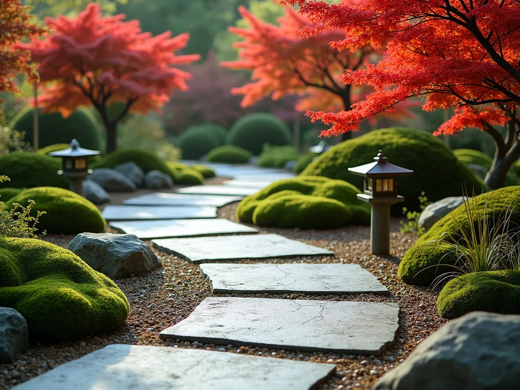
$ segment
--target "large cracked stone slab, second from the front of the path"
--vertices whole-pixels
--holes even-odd
[[[162,340],[381,355],[394,343],[397,303],[209,297]]]

